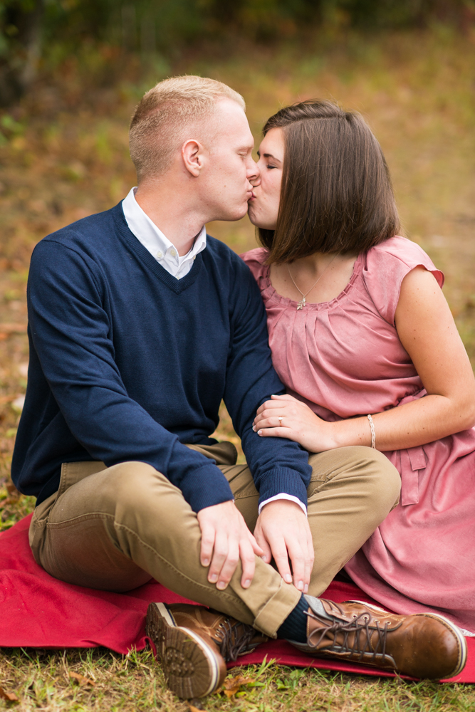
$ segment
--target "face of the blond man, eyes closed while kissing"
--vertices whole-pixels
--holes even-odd
[[[253,196],[259,168],[251,152],[254,147],[244,110],[231,99],[216,106],[207,142],[207,162],[200,176],[200,197],[212,220],[239,220]]]

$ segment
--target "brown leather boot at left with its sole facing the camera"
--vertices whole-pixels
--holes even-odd
[[[250,625],[186,603],[151,603],[145,632],[157,647],[169,689],[185,699],[214,692],[226,677],[226,662],[267,640]]]

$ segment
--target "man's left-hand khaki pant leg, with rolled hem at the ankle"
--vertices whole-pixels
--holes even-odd
[[[298,590],[256,557],[249,589],[241,587],[239,565],[219,591],[199,562],[200,542],[197,515],[181,491],[141,462],[63,465],[58,493],[36,508],[30,527],[36,561],[58,579],[125,591],[153,577],[275,637],[300,598]]]

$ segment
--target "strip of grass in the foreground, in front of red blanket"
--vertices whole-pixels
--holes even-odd
[[[167,690],[150,651],[4,651],[0,674],[4,689],[20,700],[0,701],[0,708],[14,705],[22,712],[194,712],[196,706],[208,712],[449,712],[471,711],[475,704],[467,686],[381,681],[272,661],[234,669],[225,681],[229,696],[224,689],[187,703]]]

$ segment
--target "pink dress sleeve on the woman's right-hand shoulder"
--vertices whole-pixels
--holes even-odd
[[[432,272],[442,288],[444,274],[434,266],[422,247],[405,237],[392,237],[372,247],[365,256],[362,277],[367,292],[382,318],[392,325],[395,323],[402,280],[418,266]]]

